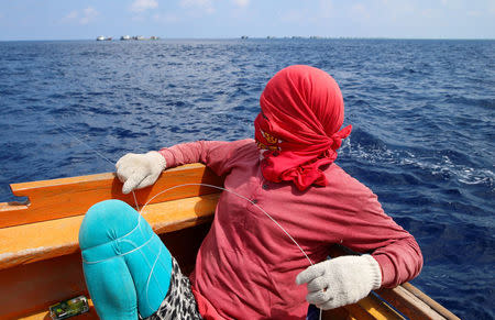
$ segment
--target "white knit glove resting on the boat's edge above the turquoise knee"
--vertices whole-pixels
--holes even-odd
[[[117,164],[117,176],[124,184],[123,194],[153,185],[167,166],[165,158],[156,151],[146,154],[128,153]]]

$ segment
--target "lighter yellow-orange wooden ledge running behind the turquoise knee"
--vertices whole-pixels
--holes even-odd
[[[147,206],[143,217],[161,234],[212,220],[219,194]],[[0,229],[0,269],[67,255],[78,250],[84,216]]]

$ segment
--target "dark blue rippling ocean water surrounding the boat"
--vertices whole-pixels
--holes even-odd
[[[413,284],[495,319],[495,41],[0,42],[0,201],[128,152],[253,136],[264,85],[292,64],[339,82],[354,130],[337,162],[416,236]]]

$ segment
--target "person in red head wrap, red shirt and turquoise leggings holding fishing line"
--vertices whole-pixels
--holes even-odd
[[[338,308],[419,274],[413,235],[334,163],[352,128],[341,129],[344,104],[333,78],[310,66],[284,68],[260,104],[254,140],[190,142],[119,159],[124,194],[197,162],[226,176],[229,191],[189,278],[134,209],[118,200],[95,205],[79,245],[100,318],[305,319],[308,304]],[[359,254],[328,260],[336,243]]]

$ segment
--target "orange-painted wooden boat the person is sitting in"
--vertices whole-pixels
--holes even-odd
[[[135,192],[143,216],[160,234],[185,273],[194,267],[197,250],[209,230],[219,190],[193,184],[222,185],[204,165],[165,170],[157,183]],[[0,203],[0,319],[51,319],[48,307],[79,295],[84,280],[78,230],[87,209],[106,199],[134,205],[120,192],[114,174],[13,184],[25,203]],[[342,254],[334,247],[332,255]],[[90,310],[73,319],[98,319]],[[323,319],[459,319],[410,284],[380,289],[355,305],[323,313]]]

